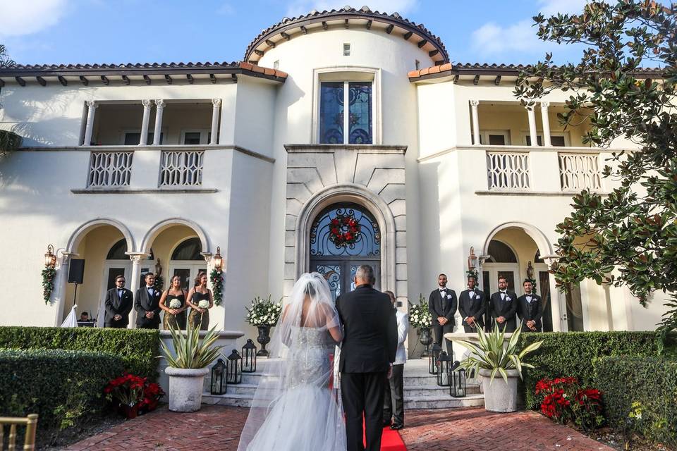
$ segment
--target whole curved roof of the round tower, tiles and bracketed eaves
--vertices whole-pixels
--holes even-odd
[[[399,35],[428,52],[435,64],[449,63],[449,54],[439,37],[424,25],[416,24],[398,13],[379,13],[367,6],[360,9],[346,6],[331,11],[312,11],[305,16],[283,18],[281,22],[263,30],[250,42],[245,51],[244,61],[257,63],[269,49],[308,32],[324,31],[331,28],[365,27],[367,30],[382,30],[387,34]]]

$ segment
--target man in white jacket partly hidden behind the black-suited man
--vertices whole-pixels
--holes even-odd
[[[409,315],[397,310],[397,299],[393,292],[385,291],[393,302],[397,316],[397,354],[393,363],[393,374],[386,386],[383,403],[383,426],[398,430],[404,427],[404,364],[407,362],[407,351],[404,342],[409,332]]]

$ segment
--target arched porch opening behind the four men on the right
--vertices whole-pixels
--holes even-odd
[[[482,264],[482,290],[488,295],[498,291],[498,279],[503,276],[508,290],[521,296],[523,280],[536,280],[536,292],[543,299],[543,331],[554,330],[548,266],[540,258],[539,245],[532,235],[518,226],[501,228],[493,233],[484,252],[489,258]],[[554,294],[554,299],[559,302],[559,293]]]

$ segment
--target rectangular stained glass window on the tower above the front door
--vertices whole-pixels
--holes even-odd
[[[322,82],[319,95],[320,144],[372,144],[372,82]]]

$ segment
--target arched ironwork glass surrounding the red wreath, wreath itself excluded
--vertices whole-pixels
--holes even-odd
[[[354,241],[336,245],[332,240],[332,221],[338,217],[354,218],[359,232]],[[378,223],[362,207],[356,204],[334,205],[325,210],[310,228],[311,257],[378,257],[381,247],[381,232]]]

